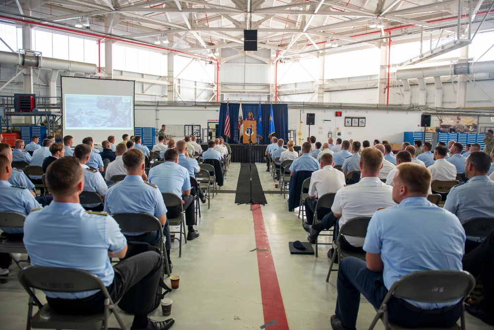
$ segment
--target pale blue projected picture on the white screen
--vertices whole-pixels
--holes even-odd
[[[133,129],[131,96],[65,94],[67,129]]]

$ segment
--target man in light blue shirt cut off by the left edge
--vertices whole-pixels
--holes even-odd
[[[3,143],[2,143],[3,144]],[[35,200],[34,196],[25,189],[25,187],[13,186],[8,182],[12,176],[12,166],[10,159],[0,155],[0,212],[19,212],[29,214],[32,209],[40,208],[40,204]],[[3,231],[2,236],[9,239],[22,239],[22,227],[20,228],[5,228],[0,227]],[[10,264],[10,255],[8,253],[0,253],[0,277],[8,276],[8,266]]]

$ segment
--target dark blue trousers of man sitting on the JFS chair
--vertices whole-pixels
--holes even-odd
[[[346,257],[339,265],[336,288],[336,316],[347,329],[356,329],[360,294],[375,308],[381,306],[388,289],[384,286],[382,273],[372,272],[366,262],[355,257]],[[416,327],[447,328],[459,319],[461,302],[452,309],[438,314],[414,312],[403,305],[403,300],[392,297],[388,303],[388,317],[400,325]]]

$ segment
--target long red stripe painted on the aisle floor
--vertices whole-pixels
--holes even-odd
[[[262,310],[264,323],[275,321],[276,323],[267,327],[267,330],[288,329],[287,314],[281,296],[278,276],[271,248],[269,247],[268,235],[264,226],[261,206],[252,205],[252,216],[254,218],[255,246],[257,250],[257,265],[259,267],[259,282],[261,285]],[[259,251],[266,249],[267,251]]]

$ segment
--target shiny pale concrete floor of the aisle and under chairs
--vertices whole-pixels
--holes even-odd
[[[274,181],[265,172],[265,164],[257,164],[263,190],[275,190]],[[232,164],[222,190],[236,190],[240,164]],[[246,187],[248,189],[248,186]],[[254,192],[255,196],[255,192]],[[255,198],[255,197],[254,197]],[[334,314],[336,272],[329,283],[326,275],[329,259],[327,247],[314,255],[290,255],[288,242],[306,242],[298,212],[288,212],[288,200],[283,195],[266,195],[268,204],[261,207],[271,254],[283,297],[289,329],[331,329],[329,317]],[[178,242],[171,252],[173,275],[180,275],[180,289],[166,295],[173,300],[172,329],[260,329],[264,321],[259,269],[252,212],[249,206],[237,206],[235,194],[217,194],[201,205],[202,218],[197,229],[201,236],[182,247],[178,257]],[[10,267],[10,280],[0,285],[0,330],[25,329],[27,293],[15,280],[18,269]],[[169,279],[165,279],[169,285]],[[122,314],[130,328],[131,315]],[[156,320],[161,308],[150,316]],[[362,297],[357,329],[368,329],[374,309]],[[117,322],[112,318],[111,326]],[[466,314],[469,330],[492,329]],[[270,329],[274,327],[267,327]],[[383,329],[378,323],[375,329]]]

